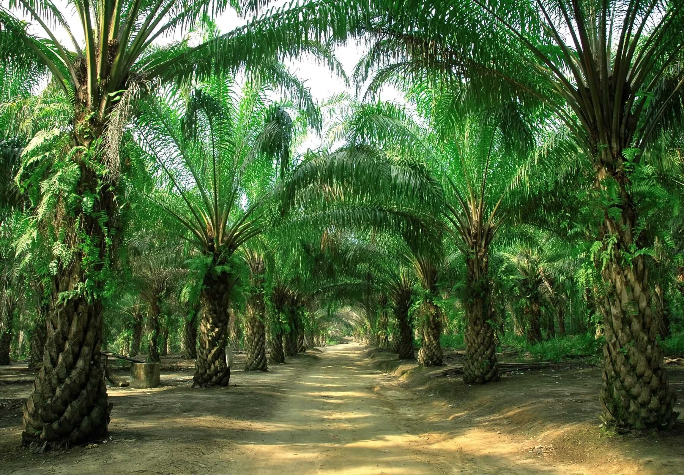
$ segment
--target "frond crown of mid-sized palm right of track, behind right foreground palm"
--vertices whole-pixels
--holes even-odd
[[[425,98],[428,94],[430,100]],[[508,118],[519,117],[522,112],[510,107],[485,111],[471,108],[456,120],[453,109],[447,114],[426,105],[440,103],[444,95],[449,95],[448,90],[425,92],[419,118],[392,103],[358,105],[330,131],[333,139],[343,139],[347,147],[366,150],[365,155],[358,155],[354,174],[385,174],[384,179],[375,181],[393,185],[378,190],[364,184],[364,193],[403,201],[418,215],[422,210],[415,205],[428,204],[428,213],[441,216],[440,224],[433,224],[453,233],[453,242],[463,252],[477,243],[481,253],[512,211],[533,207],[541,191],[517,188],[521,174],[529,174],[529,155],[535,145],[531,124],[512,124]],[[446,122],[445,117],[451,120]],[[379,158],[368,159],[363,165],[362,159],[367,157]],[[328,156],[325,173],[334,173],[332,163],[336,159],[334,154]],[[377,162],[384,162],[384,167]],[[325,176],[324,172],[318,176]],[[339,179],[353,179],[349,174],[345,178],[340,173]],[[544,191],[549,191],[548,187],[545,185]]]

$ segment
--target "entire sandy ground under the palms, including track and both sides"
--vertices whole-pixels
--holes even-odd
[[[225,389],[192,390],[192,372],[165,371],[161,388],[110,388],[111,438],[63,453],[20,448],[20,409],[10,403],[0,410],[0,474],[684,472],[682,429],[601,432],[596,369],[485,386],[434,374],[360,344],[313,349],[265,373],[236,371]],[[3,381],[18,375],[0,374],[0,400],[29,392]],[[681,392],[684,372],[670,375]]]

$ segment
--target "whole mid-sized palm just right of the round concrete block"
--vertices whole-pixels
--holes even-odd
[[[311,105],[308,91],[277,67]],[[199,386],[228,385],[228,307],[243,265],[235,252],[267,229],[274,157],[279,163],[288,159],[291,120],[269,105],[267,85],[254,75],[236,98],[233,80],[216,76],[185,99],[170,90],[144,103],[137,119],[138,141],[159,179],[159,191],[148,194],[150,209],[197,255],[192,270],[202,282],[194,375]],[[308,111],[315,123],[315,107]]]

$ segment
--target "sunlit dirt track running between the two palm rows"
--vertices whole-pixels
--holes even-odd
[[[511,443],[514,437],[491,426],[464,428],[449,418],[448,406],[440,418],[430,404],[434,394],[402,388],[365,359],[365,350],[325,347],[321,364],[295,383],[261,437],[245,444],[239,473],[584,473],[519,457],[520,439]]]

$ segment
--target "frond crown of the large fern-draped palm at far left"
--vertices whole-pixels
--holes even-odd
[[[123,90],[134,81],[206,78],[218,70],[259,66],[263,60],[272,59],[278,53],[283,57],[311,53],[318,58],[332,59],[330,49],[307,40],[306,35],[270,38],[268,42],[262,37],[250,44],[245,36],[247,33],[259,34],[255,31],[259,27],[239,28],[224,34],[210,27],[209,37],[196,46],[185,38],[186,33],[205,22],[209,14],[231,10],[236,16],[246,16],[265,3],[67,0],[66,6],[78,15],[78,25],[72,28],[64,16],[64,5],[51,0],[12,0],[8,8],[0,12],[4,27],[0,49],[3,57],[11,57],[18,64],[40,64],[47,68],[72,101],[96,111],[97,120],[101,121],[121,98]],[[38,25],[43,36],[29,33],[27,23],[17,14]],[[261,21],[254,18],[252,23],[263,29],[266,22],[263,18]],[[62,32],[66,33],[68,44],[58,38]],[[157,45],[169,38],[183,40]],[[288,42],[293,44],[293,51],[287,50]],[[332,60],[328,64],[332,71],[343,74],[339,63]]]

